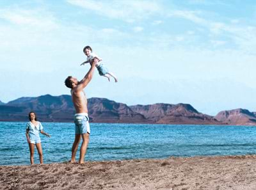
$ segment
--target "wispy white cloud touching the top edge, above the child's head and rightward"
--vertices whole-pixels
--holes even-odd
[[[161,11],[161,4],[157,1],[92,1],[92,0],[67,0],[68,3],[91,10],[95,14],[111,19],[134,22],[147,19],[149,15]]]

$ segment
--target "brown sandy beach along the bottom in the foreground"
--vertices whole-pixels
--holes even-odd
[[[256,155],[0,166],[1,189],[256,189]]]

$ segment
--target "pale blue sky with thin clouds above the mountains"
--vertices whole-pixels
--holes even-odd
[[[256,4],[244,0],[0,1],[0,100],[70,94],[90,45],[118,77],[84,90],[128,106],[256,111]]]

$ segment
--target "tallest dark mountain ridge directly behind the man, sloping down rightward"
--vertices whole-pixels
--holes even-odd
[[[88,99],[90,122],[148,123],[143,115],[134,113],[126,104],[108,99]],[[0,105],[1,121],[27,121],[28,113],[35,111],[44,122],[72,122],[75,109],[70,95],[42,95],[21,97]]]

